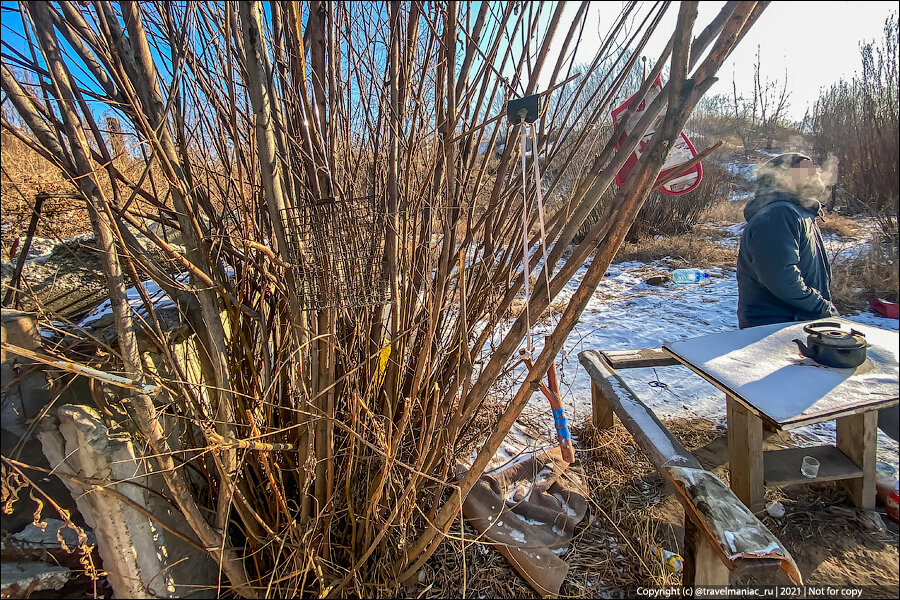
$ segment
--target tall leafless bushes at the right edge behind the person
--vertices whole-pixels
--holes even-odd
[[[838,162],[842,209],[875,216],[897,245],[898,20],[885,22],[880,45],[862,46],[862,73],[822,93],[809,119],[814,152]]]

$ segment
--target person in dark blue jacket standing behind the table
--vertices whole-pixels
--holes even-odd
[[[819,169],[804,154],[781,154],[759,168],[756,182],[738,251],[738,326],[837,316],[831,265],[816,224],[825,191]],[[878,427],[895,440],[898,415],[897,407],[878,415]]]

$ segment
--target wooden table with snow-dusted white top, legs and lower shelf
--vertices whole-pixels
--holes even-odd
[[[845,330],[865,334],[866,362],[855,369],[825,367],[800,354],[803,326],[778,323],[663,345],[679,362],[725,392],[731,489],[751,510],[765,500],[765,485],[842,480],[859,507],[875,505],[877,409],[897,404],[896,331],[840,318]],[[792,429],[836,421],[836,446],[763,452],[763,422]],[[815,479],[800,473],[804,456],[821,466]]]

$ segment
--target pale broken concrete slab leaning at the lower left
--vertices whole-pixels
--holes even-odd
[[[61,477],[97,536],[97,549],[115,596],[201,597],[198,590],[204,588],[214,596],[215,562],[156,522],[194,537],[181,513],[166,501],[162,477],[148,475],[156,467],[155,461],[135,451],[129,434],[107,429],[90,407],[66,404],[59,407],[56,417],[58,420],[42,420],[38,434],[54,470],[62,475],[119,481],[107,487],[155,516],[155,520],[149,519],[99,486],[83,488]]]

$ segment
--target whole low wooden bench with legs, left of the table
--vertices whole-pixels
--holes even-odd
[[[700,465],[616,373],[616,367],[679,363],[660,349],[603,354],[587,350],[578,360],[591,376],[594,426],[612,427],[613,416],[618,415],[684,506],[683,584],[728,585],[731,572],[780,568],[801,585],[797,564],[781,542],[721,479]]]

